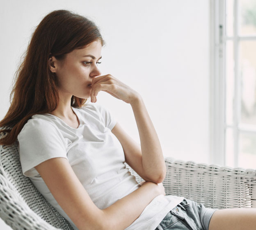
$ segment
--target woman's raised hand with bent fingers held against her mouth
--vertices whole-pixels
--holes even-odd
[[[92,79],[91,83],[91,102],[96,102],[98,92],[105,91],[123,100],[128,104],[132,104],[137,98],[140,97],[139,93],[127,86],[126,84],[113,77],[111,74],[103,75]]]

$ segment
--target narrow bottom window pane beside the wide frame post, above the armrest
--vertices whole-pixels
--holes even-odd
[[[233,129],[226,129],[226,166],[235,167]]]

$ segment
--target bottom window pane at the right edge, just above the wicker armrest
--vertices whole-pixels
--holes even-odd
[[[256,169],[256,134],[241,133],[238,167]]]

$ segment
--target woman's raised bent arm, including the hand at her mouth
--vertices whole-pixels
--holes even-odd
[[[114,127],[112,133],[117,136],[122,144],[128,165],[144,180],[161,183],[166,174],[165,159],[162,154],[158,135],[151,122],[142,97],[138,92],[122,83],[111,74],[92,79],[91,86],[91,102],[96,102],[98,92],[103,90],[132,106],[141,146],[130,138],[119,125]]]

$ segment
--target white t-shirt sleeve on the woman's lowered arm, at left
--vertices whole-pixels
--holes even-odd
[[[41,162],[56,157],[67,158],[64,138],[47,121],[28,120],[17,138],[22,172],[27,177],[39,175],[34,167]]]

